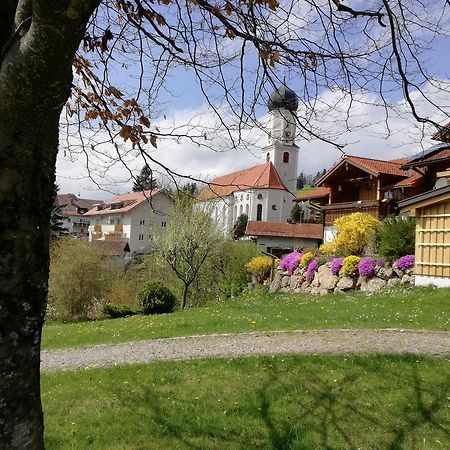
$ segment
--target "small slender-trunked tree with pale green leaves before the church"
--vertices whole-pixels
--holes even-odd
[[[179,199],[169,213],[167,229],[156,228],[150,239],[155,251],[182,281],[181,308],[185,308],[189,287],[202,266],[218,251],[223,235],[208,211],[195,207],[188,199]]]

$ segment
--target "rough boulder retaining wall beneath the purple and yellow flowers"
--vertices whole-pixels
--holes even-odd
[[[306,268],[298,267],[292,275],[278,270],[270,284],[270,292],[310,292],[325,295],[329,292],[345,292],[358,289],[376,292],[396,284],[414,284],[414,270],[401,270],[398,267],[375,266],[370,277],[345,277],[331,273],[331,263],[320,266],[311,280],[306,278]]]

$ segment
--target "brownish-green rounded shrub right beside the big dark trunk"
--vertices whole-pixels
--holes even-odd
[[[69,237],[54,241],[48,301],[55,315],[67,320],[93,317],[98,299],[104,297],[107,274],[105,260],[88,242]]]

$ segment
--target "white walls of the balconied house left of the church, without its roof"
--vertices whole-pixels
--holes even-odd
[[[98,214],[89,212],[89,240],[126,239],[131,253],[147,253],[150,251],[149,233],[153,227],[164,229],[168,223],[168,210],[171,200],[167,194],[155,194],[151,202],[141,202],[129,211],[108,210]]]

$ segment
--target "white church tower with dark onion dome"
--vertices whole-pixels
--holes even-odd
[[[278,175],[295,195],[298,173],[298,147],[295,144],[298,98],[294,91],[281,85],[272,92],[269,108],[268,142],[262,149],[262,162],[271,161]]]

